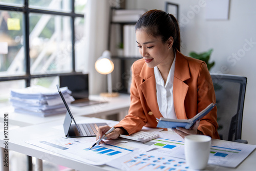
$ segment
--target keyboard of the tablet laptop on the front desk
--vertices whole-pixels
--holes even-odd
[[[83,136],[96,136],[98,127],[105,125],[105,123],[102,123],[102,125],[101,123],[82,123],[77,125],[79,126]]]

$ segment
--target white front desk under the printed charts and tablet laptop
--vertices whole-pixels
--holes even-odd
[[[77,120],[82,122],[82,119],[87,117],[76,117]],[[108,121],[106,121],[108,123]],[[38,125],[31,125],[26,127],[21,127],[19,129],[10,130],[9,131],[9,150],[19,152],[22,154],[26,154],[28,156],[35,157],[37,159],[50,161],[62,166],[66,166],[69,168],[74,168],[77,170],[117,170],[107,165],[101,166],[94,166],[90,164],[81,163],[79,161],[70,159],[69,157],[58,155],[52,152],[49,152],[45,149],[39,148],[34,145],[30,145],[24,141],[36,139],[44,136],[50,135],[63,135],[64,133],[61,130],[54,129],[53,126],[61,125],[63,123],[62,120],[38,124]],[[4,148],[4,140],[3,140],[3,132],[0,132],[0,147]],[[3,155],[3,154],[2,154]],[[227,168],[227,167],[220,167],[220,166],[210,166],[207,167],[207,170],[254,170],[256,168],[256,152],[252,152],[245,161],[243,161],[237,168]],[[1,160],[3,158],[1,157]],[[11,160],[11,159],[9,159]],[[38,160],[37,160],[38,161]],[[40,160],[39,160],[40,162]],[[0,161],[3,163],[3,161]],[[3,164],[2,164],[3,166]],[[40,170],[40,169],[38,169]]]

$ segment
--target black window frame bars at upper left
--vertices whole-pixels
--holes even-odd
[[[84,14],[75,13],[75,0],[71,0],[71,12],[60,12],[60,11],[50,11],[50,10],[42,10],[42,9],[34,9],[29,8],[29,0],[24,0],[23,7],[20,6],[10,6],[10,5],[1,5],[0,10],[4,11],[17,11],[23,12],[23,30],[24,30],[24,53],[25,53],[25,75],[20,76],[6,76],[0,77],[0,81],[13,81],[13,80],[25,80],[26,87],[30,87],[31,79],[33,78],[42,78],[42,77],[53,77],[60,75],[75,75],[81,72],[76,72],[75,69],[75,18],[83,17]],[[29,56],[29,14],[37,13],[37,14],[51,14],[51,15],[59,15],[59,16],[69,16],[71,17],[71,43],[72,43],[72,71],[68,73],[54,73],[54,74],[35,74],[32,75],[30,73],[30,56]]]

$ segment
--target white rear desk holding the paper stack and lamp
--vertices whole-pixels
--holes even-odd
[[[107,101],[106,103],[100,103],[95,105],[76,107],[70,106],[74,116],[90,116],[90,117],[101,117],[111,114],[119,114],[119,120],[121,120],[127,113],[130,107],[130,95],[120,94],[118,97],[101,97],[99,95],[90,96],[90,100],[96,101]],[[1,109],[0,120],[3,123],[4,113],[8,113],[9,123],[18,126],[28,126],[33,124],[46,123],[56,120],[64,120],[65,114],[53,115],[48,117],[38,117],[34,115],[27,115],[21,113],[15,113],[12,106],[6,106]],[[2,129],[2,128],[0,128]]]

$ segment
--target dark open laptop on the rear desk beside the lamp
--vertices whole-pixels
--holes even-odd
[[[68,87],[72,92],[71,96],[75,101],[71,105],[81,107],[103,103],[103,101],[89,99],[89,74],[61,75],[59,76],[59,86]]]

